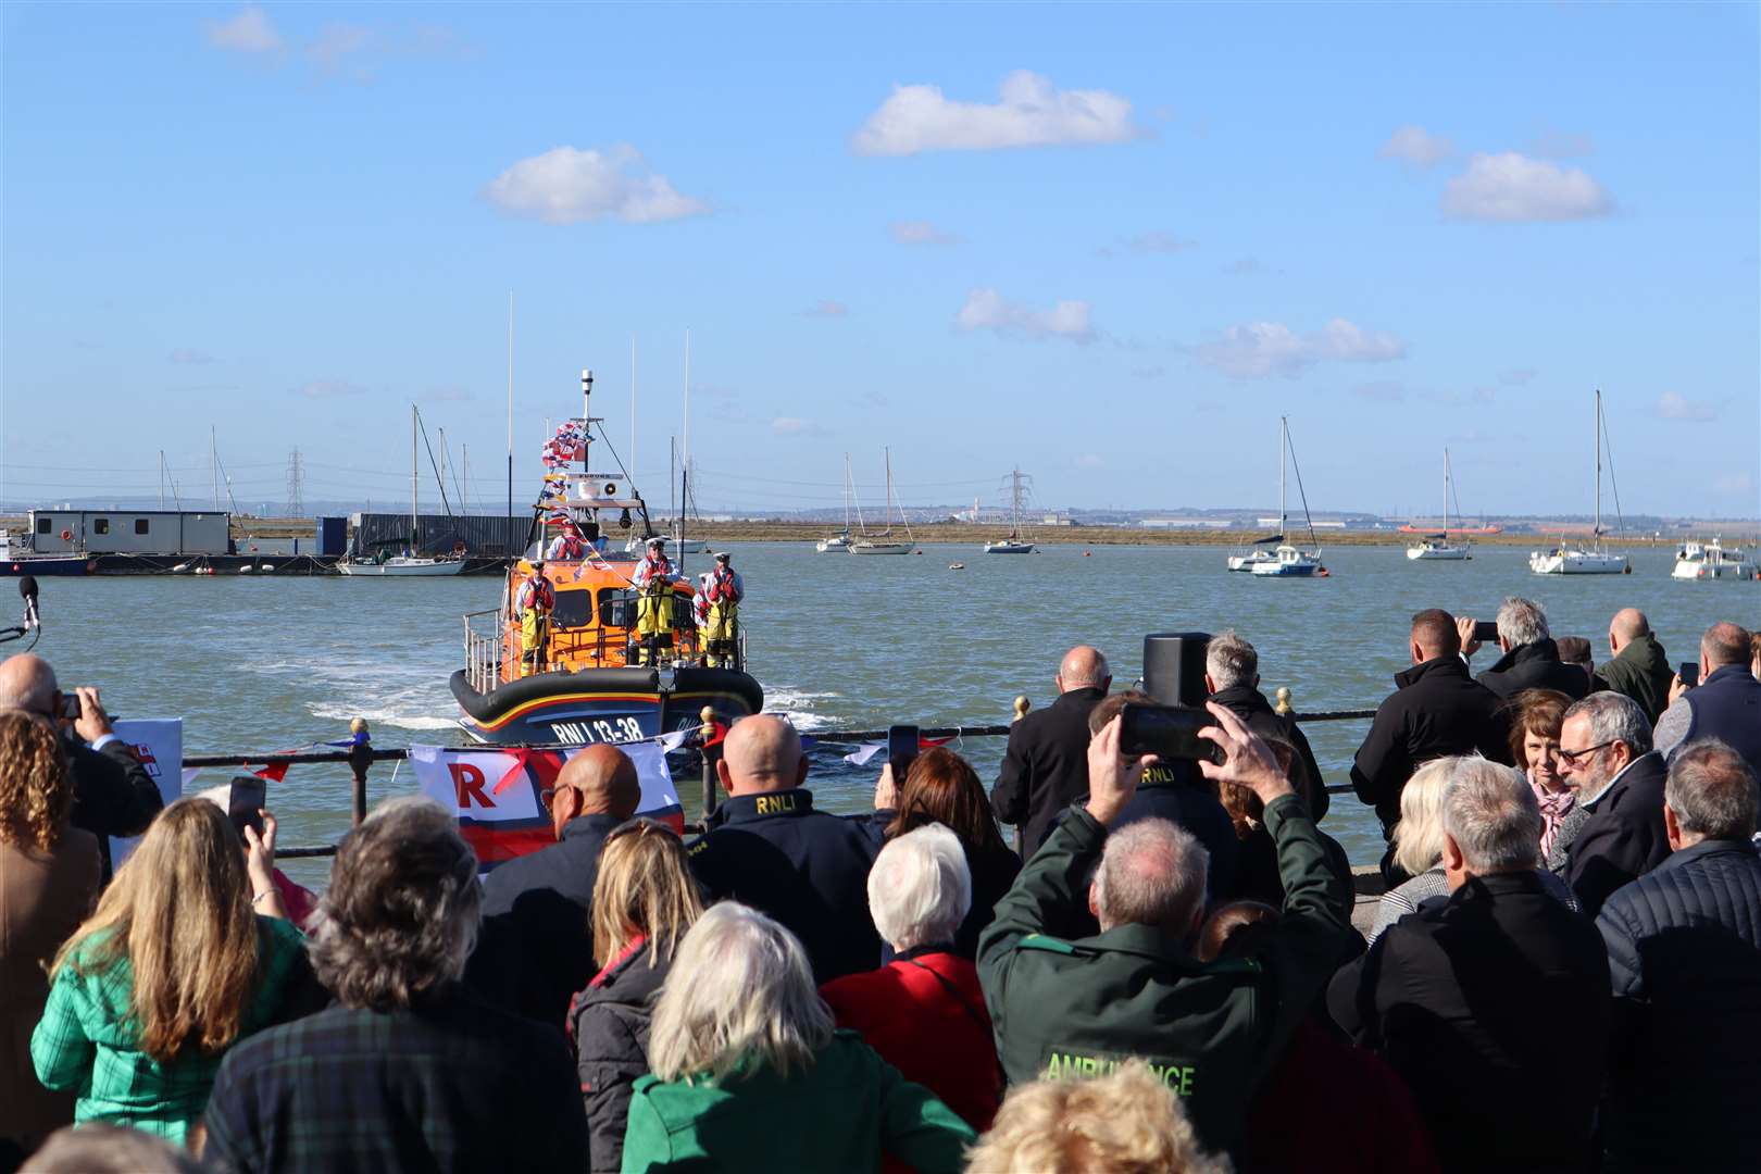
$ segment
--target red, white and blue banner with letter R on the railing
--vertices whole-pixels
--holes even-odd
[[[655,743],[618,746],[636,764],[643,785],[637,815],[685,829],[666,750]],[[556,843],[548,792],[571,750],[486,750],[477,746],[410,746],[410,766],[423,794],[458,813],[458,829],[484,871],[516,855]]]

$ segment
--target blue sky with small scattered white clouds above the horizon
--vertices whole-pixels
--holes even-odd
[[[704,507],[1761,512],[1754,5],[32,5],[0,495],[516,491],[581,366]],[[431,488],[424,491],[431,498]]]

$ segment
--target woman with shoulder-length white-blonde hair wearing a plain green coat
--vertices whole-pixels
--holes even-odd
[[[958,924],[958,919],[956,919]],[[734,901],[673,959],[636,1082],[623,1169],[960,1170],[974,1134],[854,1031],[833,1028],[807,952]]]

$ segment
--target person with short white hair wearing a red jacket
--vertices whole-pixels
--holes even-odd
[[[893,961],[819,993],[840,1028],[984,1132],[1002,1077],[977,966],[954,945],[970,903],[965,848],[951,829],[928,824],[891,840],[868,869],[868,912]]]

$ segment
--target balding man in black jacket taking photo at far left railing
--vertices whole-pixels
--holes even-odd
[[[109,884],[109,838],[146,831],[164,799],[153,776],[111,729],[99,690],[79,686],[74,693],[79,699],[79,716],[69,723],[63,716],[69,699],[56,685],[48,660],[21,653],[0,662],[0,709],[46,716],[62,732],[74,778],[69,822],[99,838],[104,884]]]

